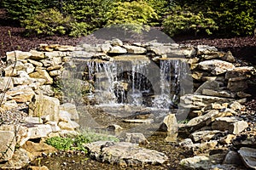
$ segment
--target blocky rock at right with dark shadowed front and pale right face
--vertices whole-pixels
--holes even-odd
[[[247,122],[241,121],[235,116],[231,117],[218,117],[215,122],[212,123],[212,129],[225,131],[229,133],[238,134],[248,127]]]

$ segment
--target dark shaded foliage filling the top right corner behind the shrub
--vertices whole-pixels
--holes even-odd
[[[200,1],[175,0],[181,8],[199,12],[213,20],[218,26],[218,34],[253,35],[256,26],[256,2],[243,0]]]

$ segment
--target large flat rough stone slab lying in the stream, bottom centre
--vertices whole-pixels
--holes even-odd
[[[159,165],[168,159],[164,153],[128,142],[97,141],[85,144],[85,147],[89,150],[91,158],[120,166]]]

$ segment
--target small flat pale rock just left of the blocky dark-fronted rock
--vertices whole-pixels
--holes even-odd
[[[205,130],[198,131],[190,134],[190,138],[193,139],[194,142],[206,142],[211,139],[218,137],[222,132],[218,130]]]

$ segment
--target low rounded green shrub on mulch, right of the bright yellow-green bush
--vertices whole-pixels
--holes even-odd
[[[163,26],[170,36],[184,31],[194,31],[195,35],[199,31],[212,34],[212,30],[218,28],[214,20],[205,17],[201,12],[193,13],[189,9],[180,6],[172,8],[172,13],[163,21]]]

